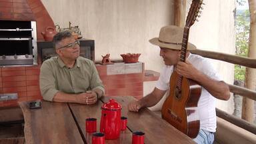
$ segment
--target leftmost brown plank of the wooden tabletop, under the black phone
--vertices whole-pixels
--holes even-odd
[[[27,144],[83,143],[67,103],[42,101],[41,109],[29,109],[28,102],[19,105],[24,115]]]

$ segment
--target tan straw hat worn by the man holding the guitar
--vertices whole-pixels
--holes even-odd
[[[149,42],[159,47],[181,50],[181,41],[184,29],[175,25],[162,27],[159,37],[150,39]],[[192,43],[188,43],[187,50],[197,49]]]

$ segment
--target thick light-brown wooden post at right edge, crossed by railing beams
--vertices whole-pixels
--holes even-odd
[[[250,33],[248,57],[256,57],[256,0],[248,0],[250,12]],[[246,68],[245,87],[255,91],[256,89],[256,69]],[[254,101],[243,97],[242,119],[253,123]]]

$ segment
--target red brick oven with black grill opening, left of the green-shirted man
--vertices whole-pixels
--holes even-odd
[[[37,41],[46,27],[54,23],[40,0],[0,1],[0,107],[41,99]]]

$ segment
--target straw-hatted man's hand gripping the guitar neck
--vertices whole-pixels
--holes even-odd
[[[188,79],[197,80],[198,75],[200,75],[200,71],[198,71],[189,61],[179,61],[176,65],[176,72],[183,77]]]

